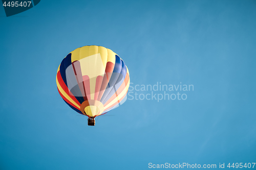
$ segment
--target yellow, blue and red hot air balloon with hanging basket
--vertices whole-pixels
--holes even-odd
[[[130,85],[123,60],[103,46],[83,46],[65,57],[58,67],[57,88],[61,98],[75,111],[94,118],[116,108]],[[125,100],[123,100],[125,101]]]

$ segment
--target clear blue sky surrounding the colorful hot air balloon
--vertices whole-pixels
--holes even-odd
[[[256,162],[255,0],[42,0],[10,17],[0,7],[0,16],[0,169]],[[89,127],[55,81],[61,60],[84,45],[117,53],[133,87],[194,91],[127,100]]]

